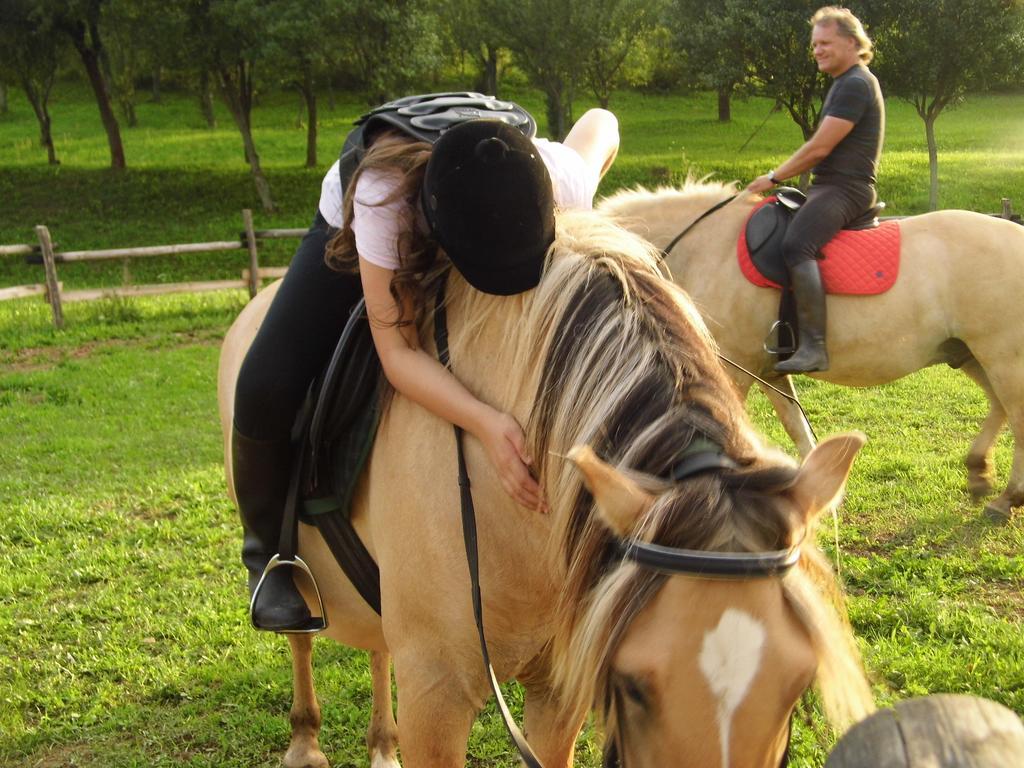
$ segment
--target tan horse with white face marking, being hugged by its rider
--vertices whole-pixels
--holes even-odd
[[[799,468],[764,447],[699,316],[657,274],[653,250],[596,214],[560,219],[534,291],[495,297],[456,274],[449,282],[456,374],[527,425],[549,503],[549,514],[518,507],[481,445],[467,439],[490,658],[499,679],[523,685],[525,732],[546,768],[571,765],[592,707],[609,753],[630,768],[775,768],[793,708],[814,678],[837,725],[869,711],[841,596],[813,534],[862,436],[826,440]],[[225,449],[234,378],[271,295],[257,296],[224,340]],[[424,339],[427,329],[429,318]],[[593,451],[575,447],[569,459],[581,445]],[[712,467],[672,479],[685,457],[706,457],[712,445]],[[489,695],[456,478],[451,425],[394,396],[352,510],[380,566],[382,616],[362,603],[318,532],[300,526],[300,554],[330,617],[325,634],[375,651],[375,767],[397,765],[388,653],[407,766],[464,765]],[[796,548],[800,559],[783,575],[669,575],[624,559],[620,537],[717,552]],[[310,641],[291,642],[285,763],[325,766]]]

